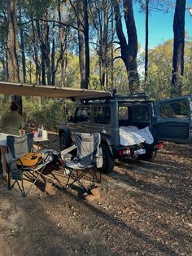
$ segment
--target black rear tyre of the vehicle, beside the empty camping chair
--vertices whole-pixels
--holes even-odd
[[[101,144],[103,150],[103,166],[101,171],[105,174],[110,173],[115,166],[115,159],[106,144]]]

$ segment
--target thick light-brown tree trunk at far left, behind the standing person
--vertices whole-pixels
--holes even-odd
[[[7,1],[7,20],[8,20],[8,37],[7,37],[7,63],[8,63],[8,80],[10,82],[20,82],[20,72],[17,51],[17,15],[16,0]],[[19,105],[19,112],[22,114],[22,98],[19,95],[13,95],[12,99]]]

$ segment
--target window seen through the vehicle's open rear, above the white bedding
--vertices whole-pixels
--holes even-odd
[[[150,121],[150,108],[145,105],[133,106],[131,108],[132,121]]]

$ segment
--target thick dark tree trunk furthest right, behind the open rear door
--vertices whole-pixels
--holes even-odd
[[[172,96],[182,94],[185,46],[185,0],[177,0],[173,20]]]

